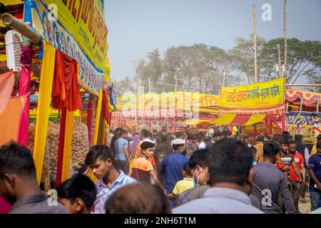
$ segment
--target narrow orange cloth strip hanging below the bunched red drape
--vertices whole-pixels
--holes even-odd
[[[66,128],[65,128],[65,145],[63,147],[63,165],[61,170],[61,182],[69,178],[70,160],[71,160],[71,142],[73,138],[73,116],[74,112],[67,110]]]

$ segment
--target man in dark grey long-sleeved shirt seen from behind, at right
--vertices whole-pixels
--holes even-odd
[[[279,214],[278,195],[280,194],[289,214],[295,214],[295,205],[287,187],[287,180],[274,163],[280,147],[277,142],[265,142],[263,162],[253,167],[252,194],[258,199],[259,208],[266,214]]]

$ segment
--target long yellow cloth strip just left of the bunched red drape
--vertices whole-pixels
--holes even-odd
[[[42,166],[44,165],[44,151],[46,145],[46,132],[49,122],[49,110],[51,102],[52,82],[54,79],[56,50],[44,41],[44,57],[42,58],[38,112],[36,119],[36,133],[34,139],[34,163],[36,166],[36,177],[41,180]]]

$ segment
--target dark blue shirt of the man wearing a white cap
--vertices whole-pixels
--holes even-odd
[[[176,183],[183,180],[183,165],[188,158],[180,152],[173,152],[164,157],[161,162],[160,172],[165,177],[165,190],[167,194],[173,193]]]

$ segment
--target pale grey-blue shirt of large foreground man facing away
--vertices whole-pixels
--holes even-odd
[[[244,192],[225,187],[210,187],[203,198],[173,209],[173,214],[264,214],[253,207]]]

